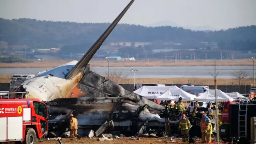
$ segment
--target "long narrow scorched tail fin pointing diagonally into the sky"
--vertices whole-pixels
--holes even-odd
[[[84,54],[84,56],[77,62],[77,64],[68,72],[66,75],[66,79],[72,78],[76,74],[82,71],[82,68],[84,68],[89,61],[92,59],[94,54],[97,52],[97,50],[100,48],[102,43],[106,40],[108,35],[112,32],[112,30],[115,28],[116,24],[121,20],[121,18],[124,16],[126,11],[130,8],[134,0],[131,0],[130,3],[124,8],[124,10],[116,17],[116,19],[110,24],[110,26],[106,29],[106,31],[100,36],[100,38],[92,45],[92,47]]]

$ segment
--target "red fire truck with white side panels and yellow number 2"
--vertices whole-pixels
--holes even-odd
[[[0,100],[0,143],[36,144],[48,130],[49,112],[39,99]]]

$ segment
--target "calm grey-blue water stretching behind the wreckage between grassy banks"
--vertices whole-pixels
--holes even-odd
[[[51,68],[1,68],[0,74],[37,74]],[[214,66],[176,66],[176,67],[110,67],[112,71],[122,72],[122,76],[133,78],[134,72],[131,69],[138,69],[136,78],[212,78],[210,72],[214,74]],[[248,70],[250,76],[253,76],[252,66],[216,66],[219,71],[218,78],[233,78],[234,70]],[[93,72],[100,75],[108,74],[108,67],[93,67]]]

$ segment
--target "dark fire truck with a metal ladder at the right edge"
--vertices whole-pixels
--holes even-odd
[[[250,102],[250,97],[236,101],[224,102],[220,137],[224,142],[248,142],[250,135],[250,118],[256,116],[256,104]]]

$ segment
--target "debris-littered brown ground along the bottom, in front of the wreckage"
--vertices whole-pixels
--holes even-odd
[[[98,138],[89,139],[81,138],[81,140],[70,141],[68,138],[63,138],[61,140],[62,144],[182,144],[181,139],[174,139],[175,142],[172,142],[171,138],[140,138],[140,140],[130,140],[130,138],[114,138],[112,141],[98,141]],[[44,144],[56,144],[57,140],[44,140]],[[200,144],[201,140],[196,140],[196,143]],[[40,143],[39,143],[40,144]]]

